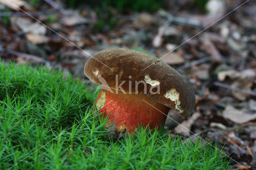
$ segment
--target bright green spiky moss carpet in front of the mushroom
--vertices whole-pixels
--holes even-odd
[[[228,169],[216,148],[163,130],[108,138],[96,94],[70,74],[0,61],[0,169]]]

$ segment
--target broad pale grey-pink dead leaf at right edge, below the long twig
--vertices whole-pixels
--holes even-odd
[[[223,117],[234,123],[241,124],[256,119],[256,114],[244,113],[231,105],[227,105],[226,109],[223,111]]]

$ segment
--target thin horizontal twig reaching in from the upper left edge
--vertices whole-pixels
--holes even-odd
[[[43,11],[35,11],[35,12],[27,12],[27,13],[32,16],[42,16],[42,15],[52,14],[53,12],[56,12],[56,10],[43,10]],[[0,12],[0,17],[3,17],[3,16],[28,16],[28,14],[26,14],[24,12]]]

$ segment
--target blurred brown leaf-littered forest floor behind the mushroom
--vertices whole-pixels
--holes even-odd
[[[155,55],[184,75],[196,94],[192,116],[185,119],[170,110],[173,120],[166,120],[166,131],[214,141],[236,168],[256,169],[255,1],[222,1],[207,13],[188,8],[190,0],[170,1],[168,10],[154,12],[121,14],[110,8],[115,26],[104,14],[108,24],[101,25],[88,5],[71,9],[56,2],[32,6],[16,0],[13,6],[0,0],[1,59],[61,67],[90,82],[84,63],[102,49]]]

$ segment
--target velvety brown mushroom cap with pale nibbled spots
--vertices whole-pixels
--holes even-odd
[[[148,67],[150,64],[152,65]],[[184,117],[189,116],[195,107],[195,94],[190,83],[164,61],[140,51],[123,48],[102,50],[88,59],[84,65],[84,73],[91,81],[101,85],[104,78],[111,89],[116,89],[118,75],[117,86],[120,85],[126,93],[145,94],[163,105],[176,109]],[[146,91],[144,84],[139,81],[146,82]],[[160,93],[150,93],[156,92],[157,86]]]

